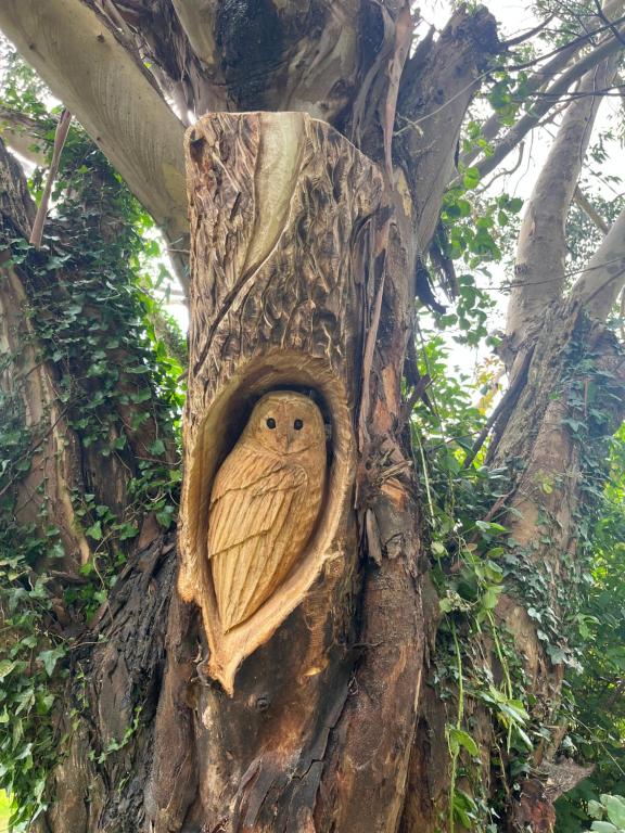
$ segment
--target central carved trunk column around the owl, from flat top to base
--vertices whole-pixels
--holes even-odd
[[[227,813],[243,829],[277,830],[268,785],[286,784],[291,815],[307,811],[357,654],[355,427],[362,321],[381,280],[382,178],[303,113],[205,116],[188,132],[187,168],[193,242],[178,586],[202,612],[205,644],[183,699],[193,703],[206,779],[188,820],[213,829]],[[289,575],[224,632],[207,558],[212,487],[254,402],[273,389],[312,389],[331,423],[326,496]]]

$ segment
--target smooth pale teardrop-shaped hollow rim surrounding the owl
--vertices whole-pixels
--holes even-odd
[[[219,465],[234,446],[253,403],[277,389],[310,390],[329,424],[328,473],[319,518],[311,539],[286,578],[250,618],[224,632],[207,553],[209,497]],[[292,350],[270,351],[251,360],[215,397],[197,428],[187,474],[184,535],[189,558],[180,574],[180,591],[203,614],[211,654],[206,671],[233,693],[240,663],[267,641],[302,601],[326,561],[341,559],[352,510],[356,453],[352,415],[342,381],[322,360]],[[243,577],[242,577],[243,580]],[[304,669],[311,674],[312,669]]]

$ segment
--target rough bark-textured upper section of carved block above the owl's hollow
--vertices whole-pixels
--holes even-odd
[[[192,256],[211,253],[211,261],[200,267],[208,267],[206,284],[192,286],[197,320],[190,348],[194,372],[209,362],[212,386],[242,357],[268,345],[340,363],[360,335],[353,321],[363,287],[354,281],[353,253],[344,241],[373,213],[381,183],[343,137],[302,114],[281,114],[293,117],[284,141],[292,152],[279,149],[280,176],[268,170],[263,143],[277,137],[268,130],[262,141],[259,133],[271,115],[219,114],[194,128],[211,172],[207,188],[190,195]],[[352,153],[345,153],[346,144]],[[232,166],[231,158],[245,164]]]

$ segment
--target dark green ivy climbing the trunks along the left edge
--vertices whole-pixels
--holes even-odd
[[[15,61],[3,80],[4,101],[44,124],[30,71]],[[40,181],[34,176],[35,191]],[[0,785],[13,798],[14,831],[26,830],[44,808],[47,778],[63,754],[52,715],[74,672],[75,635],[106,602],[145,515],[164,528],[175,522],[180,480],[184,343],[155,299],[164,275],[153,222],[77,127],[53,196],[41,249],[0,228],[0,251],[29,292],[25,311],[34,337],[24,348],[54,368],[58,401],[84,462],[114,459],[126,480],[123,501],[117,494],[111,500],[98,478],[88,490],[86,465],[87,491],[77,490],[73,502],[92,554],[82,584],[59,582],[54,573],[67,553],[60,530],[47,522],[42,486],[36,524],[17,521],[15,505],[15,486],[30,472],[50,418],[25,430],[26,379],[15,377],[13,393],[1,395]],[[1,370],[14,368],[14,358],[2,357]]]

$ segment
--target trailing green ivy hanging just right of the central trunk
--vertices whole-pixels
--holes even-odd
[[[475,399],[477,393],[488,393],[489,374],[485,388],[477,392],[468,377],[449,372],[449,347],[441,336],[428,339],[420,358],[421,373],[433,379],[433,393],[429,406],[420,402],[416,408],[412,438],[430,510],[432,579],[443,615],[433,663],[434,682],[448,713],[447,830],[486,830],[496,825],[497,808],[481,782],[480,741],[465,699],[480,701],[490,712],[496,748],[502,751],[500,768],[511,753],[523,760],[532,746],[519,659],[494,617],[503,590],[507,530],[492,508],[507,494],[509,473],[488,469],[482,458],[475,465],[463,465],[486,419]],[[486,636],[498,657],[497,679],[480,655]]]

